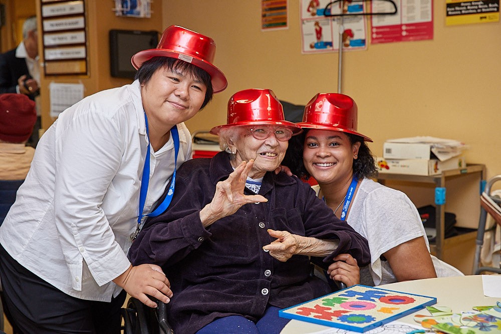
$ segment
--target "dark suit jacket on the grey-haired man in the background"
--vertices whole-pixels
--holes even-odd
[[[29,74],[26,59],[16,58],[16,49],[0,54],[0,94],[17,93],[19,77]],[[35,99],[32,95],[29,97]]]

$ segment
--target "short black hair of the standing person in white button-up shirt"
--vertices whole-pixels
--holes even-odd
[[[171,57],[153,57],[147,61],[145,61],[141,67],[137,70],[135,79],[139,80],[141,85],[150,81],[153,74],[159,68],[165,67],[169,71],[177,70],[182,73],[187,73],[194,78],[200,80],[207,90],[205,92],[205,99],[203,100],[202,106],[200,110],[205,108],[207,103],[212,100],[212,95],[214,94],[214,90],[212,89],[212,82],[210,81],[210,75],[201,68],[190,64],[188,62],[171,58]]]

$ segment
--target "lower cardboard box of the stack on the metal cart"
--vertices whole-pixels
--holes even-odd
[[[464,157],[457,156],[445,161],[438,159],[385,159],[376,158],[380,173],[412,174],[412,175],[437,175],[444,170],[465,168]]]

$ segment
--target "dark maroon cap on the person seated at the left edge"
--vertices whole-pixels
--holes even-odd
[[[0,94],[0,140],[22,143],[37,121],[35,102],[24,94]]]

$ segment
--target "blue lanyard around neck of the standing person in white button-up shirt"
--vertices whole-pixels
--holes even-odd
[[[170,204],[172,196],[174,195],[174,186],[176,181],[176,166],[177,166],[177,154],[179,153],[179,133],[177,132],[177,125],[174,125],[170,129],[170,134],[172,136],[172,141],[174,142],[174,172],[172,173],[172,179],[170,181],[169,191],[165,195],[164,200],[160,205],[153,211],[146,215],[143,215],[144,203],[146,201],[146,193],[148,192],[148,183],[150,179],[150,143],[148,134],[148,119],[146,113],[144,113],[144,121],[146,124],[146,137],[148,137],[148,148],[146,150],[146,158],[144,159],[143,175],[141,177],[141,190],[139,192],[139,213],[137,217],[137,227],[136,231],[130,235],[132,241],[137,237],[139,231],[141,230],[141,219],[144,216],[156,217],[163,213]]]

